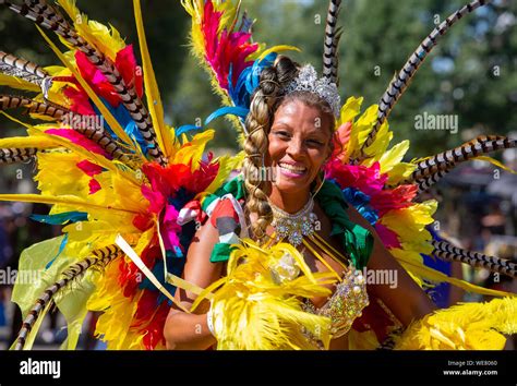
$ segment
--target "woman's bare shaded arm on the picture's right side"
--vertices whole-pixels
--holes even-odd
[[[382,277],[394,277],[396,279],[394,284],[369,285],[371,293],[381,299],[405,326],[408,326],[413,319],[421,318],[436,310],[431,299],[384,246],[370,222],[351,206],[349,206],[347,213],[353,222],[366,228],[373,234],[374,245],[368,269],[387,269],[387,273],[392,276],[383,275]],[[380,276],[375,275],[375,277]]]

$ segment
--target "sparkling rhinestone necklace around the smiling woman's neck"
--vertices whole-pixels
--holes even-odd
[[[304,236],[314,233],[314,225],[317,221],[317,216],[312,212],[314,208],[314,198],[312,195],[306,204],[292,215],[270,202],[269,205],[273,210],[272,226],[275,227],[277,232],[277,241],[287,239],[292,246],[298,246],[302,243]]]

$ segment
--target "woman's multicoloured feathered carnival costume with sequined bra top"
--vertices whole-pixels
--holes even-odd
[[[172,128],[165,120],[140,0],[133,5],[142,65],[136,63],[133,46],[115,27],[88,20],[72,0],[58,0],[57,5],[44,0],[23,4],[0,0],[2,12],[10,10],[37,24],[61,62],[41,68],[0,51],[0,85],[17,93],[0,96],[1,110],[7,114],[9,109],[25,109],[31,118],[26,122],[12,118],[27,135],[0,140],[0,164],[37,159],[34,180],[40,191],[0,194],[0,200],[48,204],[49,215],[35,219],[65,225],[61,237],[22,253],[20,270],[38,270],[41,280],[17,282],[14,288],[12,300],[24,315],[14,348],[32,347],[45,314],[56,304],[68,323],[64,348],[75,348],[86,313],[97,311],[101,315],[96,336],[109,349],[163,349],[170,307],[195,312],[203,299],[211,300],[217,315],[213,328],[219,349],[328,348],[333,337],[347,331],[350,349],[377,348],[399,325],[378,299],[370,297],[366,302],[368,286],[354,269],[366,265],[372,240],[368,230],[350,221],[348,205],[372,224],[419,285],[446,281],[468,291],[506,297],[428,315],[407,328],[396,348],[502,348],[502,334],[517,331],[514,294],[447,277],[426,267],[421,254],[512,277],[515,264],[433,238],[426,226],[433,222],[437,203],[420,203],[417,197],[459,162],[516,147],[516,142],[482,136],[404,162],[409,142],[389,147],[393,133],[387,123],[440,36],[482,2],[472,1],[440,24],[394,77],[378,106],[363,111],[362,98],[349,97],[341,106],[335,96],[340,1],[329,2],[318,95],[329,98],[333,110],[338,110],[335,136],[339,146],[326,164],[326,180],[315,200],[342,251],[310,228],[298,229],[303,237],[287,237],[288,242],[284,238],[261,244],[250,239],[242,215],[242,181],[227,182],[230,172],[242,167],[244,154],[204,156],[214,137],[209,123],[221,116],[235,117],[242,144],[249,135],[244,122],[261,72],[273,65],[278,52],[296,48],[253,43],[252,20],[240,13],[238,1],[181,3],[192,17],[192,51],[208,70],[224,105],[203,128]],[[59,35],[65,51],[45,29]],[[316,92],[314,85],[309,87]],[[208,220],[219,231],[211,262],[227,262],[227,272],[202,289],[181,276],[196,228]],[[342,264],[345,280],[333,269],[312,273],[289,241],[297,245],[301,241],[308,249],[314,244],[332,255]],[[314,254],[318,251],[314,249]],[[330,285],[337,287],[334,295],[325,287]],[[191,310],[173,298],[177,288],[199,294]],[[313,297],[330,298],[321,310],[310,312],[303,300]],[[309,337],[316,337],[317,342]]]

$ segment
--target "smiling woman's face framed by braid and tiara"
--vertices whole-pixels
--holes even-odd
[[[284,193],[306,192],[330,155],[330,121],[316,107],[289,100],[277,109],[266,166]]]

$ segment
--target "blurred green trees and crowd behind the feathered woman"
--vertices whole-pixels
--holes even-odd
[[[364,106],[377,102],[394,73],[431,29],[464,0],[346,0],[340,23],[340,94],[363,96]],[[299,62],[320,62],[327,1],[243,0],[242,8],[256,17],[256,38],[268,45],[290,44],[302,49]],[[127,0],[77,1],[91,19],[109,22],[128,41],[136,43],[132,8]],[[190,21],[177,0],[143,1],[147,40],[155,72],[173,125],[204,120],[219,102],[209,82],[187,47]],[[495,0],[458,23],[431,55],[406,96],[389,118],[394,141],[411,141],[410,157],[452,148],[480,134],[517,136],[517,2]],[[57,63],[34,25],[0,10],[0,48],[43,65]],[[136,50],[137,51],[137,50]],[[0,87],[0,93],[2,92]],[[456,133],[416,130],[416,117],[453,114]],[[212,124],[211,124],[212,125]],[[213,124],[212,150],[236,152],[236,133],[228,122]],[[0,117],[1,136],[19,135],[23,128]],[[514,131],[514,133],[512,133]],[[517,170],[517,152],[496,155]],[[34,164],[0,168],[0,192],[35,193]],[[504,258],[517,260],[517,176],[491,164],[471,161],[447,174],[430,191],[438,200],[435,230],[459,245]],[[31,214],[47,214],[45,205],[0,203],[0,269],[17,267],[28,245],[60,234],[60,227],[41,225]],[[430,262],[430,264],[436,264]],[[460,264],[440,269],[485,287],[517,292],[516,282]],[[9,275],[3,275],[9,278]],[[21,324],[17,306],[10,302],[12,282],[0,282],[0,349],[9,348]],[[482,300],[455,289],[435,289],[441,306]],[[92,330],[95,315],[85,321]],[[64,321],[51,313],[44,322],[35,348],[58,347],[65,337]],[[80,347],[96,342],[84,334]]]

